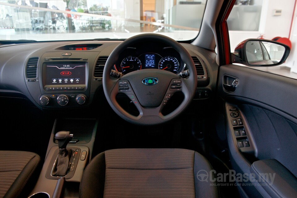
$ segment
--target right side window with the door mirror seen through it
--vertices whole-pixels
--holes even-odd
[[[296,13],[294,3],[283,6],[268,0],[236,0],[227,19],[231,53],[236,52],[235,49],[241,47],[239,44],[247,39],[266,39],[284,43],[291,48],[285,62],[273,67],[251,68],[297,79],[297,50],[294,49],[295,45],[291,45],[297,40]],[[285,21],[288,23],[284,23]],[[246,58],[252,65],[264,62],[277,63],[284,54],[284,48],[281,46],[252,42],[253,45],[246,49]]]

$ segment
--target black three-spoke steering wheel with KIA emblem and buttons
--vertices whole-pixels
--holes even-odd
[[[132,71],[120,78],[110,76],[120,53],[127,47],[143,41],[156,41],[176,49],[187,65],[190,75],[187,78],[181,78],[170,71],[143,69]],[[121,118],[133,124],[155,125],[174,119],[186,109],[196,92],[197,75],[190,54],[181,44],[160,34],[144,33],[126,39],[112,51],[105,63],[102,81],[108,103]],[[161,111],[165,107],[166,101],[176,92],[183,93],[183,101],[171,113],[163,115]],[[119,105],[116,100],[118,93],[124,93],[131,99],[139,111],[139,115],[132,115]]]

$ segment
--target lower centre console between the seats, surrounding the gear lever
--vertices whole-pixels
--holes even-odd
[[[50,136],[46,158],[37,183],[30,193],[35,197],[78,197],[79,185],[85,167],[91,160],[98,125],[97,119],[56,119]],[[69,167],[63,176],[57,174],[58,155],[61,152],[61,140],[57,134],[72,131],[71,140],[64,144],[69,155]],[[67,147],[66,147],[67,145]],[[68,163],[68,162],[67,162]],[[61,174],[58,174],[61,175]]]

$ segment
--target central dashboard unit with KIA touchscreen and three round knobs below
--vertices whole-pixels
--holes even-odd
[[[89,98],[88,58],[70,58],[72,53],[62,53],[67,58],[43,58],[39,103],[47,108],[79,107]],[[69,58],[68,58],[69,57]]]

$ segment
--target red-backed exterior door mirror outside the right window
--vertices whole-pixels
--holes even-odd
[[[276,41],[247,39],[236,46],[232,53],[232,63],[251,67],[280,65],[288,58],[290,47]]]

